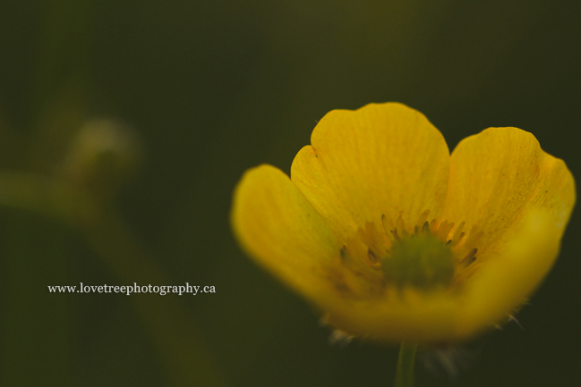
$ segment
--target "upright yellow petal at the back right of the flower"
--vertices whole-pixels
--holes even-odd
[[[546,209],[564,230],[575,204],[575,182],[562,160],[543,152],[531,133],[490,128],[462,140],[452,152],[442,218],[483,232],[479,254],[510,240],[531,206]]]

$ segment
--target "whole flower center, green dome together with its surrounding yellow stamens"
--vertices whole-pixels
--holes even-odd
[[[340,250],[348,270],[332,273],[337,289],[363,297],[382,297],[387,289],[458,290],[482,262],[483,231],[475,225],[465,231],[465,222],[428,221],[429,215],[424,211],[412,227],[402,215],[395,223],[381,215],[382,230],[366,222]]]

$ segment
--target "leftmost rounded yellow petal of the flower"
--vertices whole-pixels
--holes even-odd
[[[326,295],[328,267],[340,246],[284,172],[266,164],[245,172],[235,189],[231,216],[235,235],[250,257],[307,298],[316,301]]]

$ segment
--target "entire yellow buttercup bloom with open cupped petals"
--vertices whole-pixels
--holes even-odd
[[[449,154],[406,105],[335,110],[295,156],[235,189],[236,238],[338,330],[460,341],[502,324],[548,273],[575,204],[562,160],[490,128]]]

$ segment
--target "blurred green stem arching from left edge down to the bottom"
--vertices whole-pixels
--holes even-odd
[[[98,251],[121,283],[171,283],[162,270],[147,257],[115,211],[67,181],[31,173],[0,172],[0,206],[47,215],[82,231],[90,246]],[[21,240],[21,237],[16,240]],[[20,247],[19,244],[16,248]],[[38,247],[43,249],[42,245]],[[42,253],[38,251],[38,254]],[[27,274],[28,271],[22,273]],[[18,281],[20,280],[14,279],[14,282]],[[47,291],[44,286],[44,283],[37,282],[32,289]],[[146,298],[139,295],[130,299],[146,331],[158,347],[164,366],[175,385],[226,385],[211,353],[203,349],[195,326],[179,301],[171,297]],[[61,321],[56,324],[63,331],[64,341],[67,338],[62,327],[66,323]],[[41,325],[36,322],[32,326]],[[51,326],[45,325],[42,329],[43,332],[54,333]],[[59,330],[56,329],[55,332]],[[51,338],[51,341],[55,340],[54,337]]]

